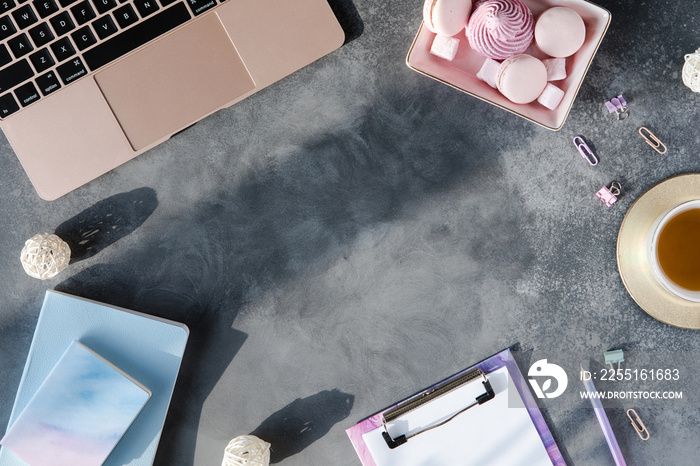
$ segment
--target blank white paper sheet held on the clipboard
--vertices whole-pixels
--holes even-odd
[[[475,406],[447,424],[421,433],[393,450],[382,428],[363,435],[377,466],[551,466],[537,429],[502,367],[490,374],[496,397]],[[472,382],[421,406],[389,424],[393,438],[434,425],[484,393]]]

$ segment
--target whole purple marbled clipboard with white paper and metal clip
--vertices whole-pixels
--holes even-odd
[[[566,466],[510,349],[346,433],[363,466]]]

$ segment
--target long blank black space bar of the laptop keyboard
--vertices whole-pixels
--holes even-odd
[[[190,14],[187,12],[187,7],[178,3],[88,50],[83,54],[83,58],[91,70],[96,70],[179,26],[188,19],[190,19]]]

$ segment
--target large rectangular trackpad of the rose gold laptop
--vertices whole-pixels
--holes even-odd
[[[134,150],[170,136],[255,87],[216,14],[97,73],[95,81]]]

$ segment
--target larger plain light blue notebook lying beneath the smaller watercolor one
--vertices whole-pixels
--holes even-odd
[[[188,337],[184,324],[47,291],[8,428],[66,348],[79,340],[152,392],[104,464],[153,464]],[[25,464],[7,448],[0,449],[0,466]]]

